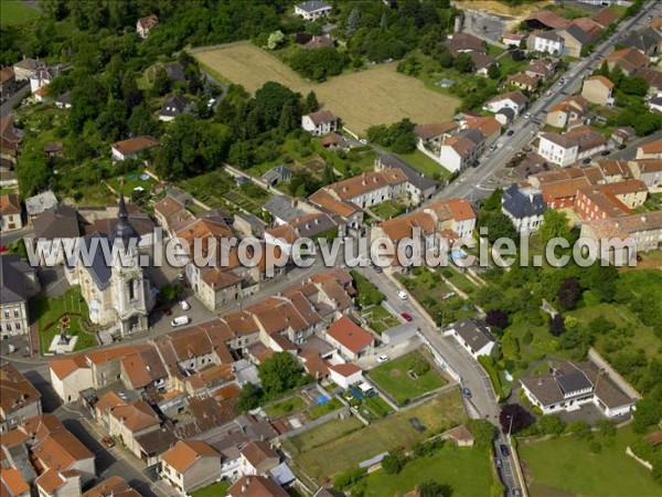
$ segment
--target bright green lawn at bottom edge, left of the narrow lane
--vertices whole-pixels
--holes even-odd
[[[380,469],[370,474],[356,487],[365,488],[365,497],[405,495],[421,482],[433,479],[450,491],[452,497],[490,495],[492,472],[487,451],[477,447],[456,447],[448,443],[436,454],[409,462],[397,475]]]

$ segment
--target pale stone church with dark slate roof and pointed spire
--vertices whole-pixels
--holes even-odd
[[[68,282],[81,285],[89,320],[102,327],[115,325],[122,337],[148,329],[154,305],[156,292],[139,264],[139,241],[121,195],[115,228],[108,235],[84,236],[76,265],[66,271]],[[111,254],[110,261],[105,253]]]

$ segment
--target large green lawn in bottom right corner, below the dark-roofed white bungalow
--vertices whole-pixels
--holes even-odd
[[[589,442],[573,436],[520,443],[519,452],[534,484],[586,497],[660,496],[662,486],[624,452],[633,440],[626,426],[617,432],[612,445],[602,443],[598,454],[589,451]]]

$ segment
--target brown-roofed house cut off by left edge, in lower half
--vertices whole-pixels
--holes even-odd
[[[41,393],[13,364],[0,367],[0,433],[42,413]]]

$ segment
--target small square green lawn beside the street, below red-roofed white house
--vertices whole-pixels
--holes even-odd
[[[427,361],[418,351],[409,352],[372,369],[367,376],[384,389],[399,405],[444,387],[448,381],[430,364],[429,370],[413,379],[408,371],[417,361]],[[429,361],[428,361],[429,363]]]

